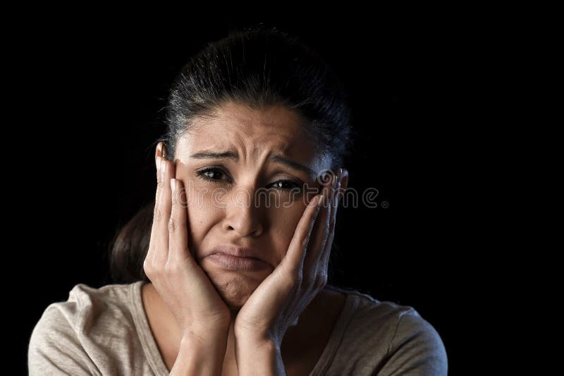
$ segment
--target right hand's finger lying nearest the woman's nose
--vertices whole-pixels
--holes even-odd
[[[305,249],[309,243],[309,238],[312,235],[312,230],[323,200],[323,195],[316,195],[308,204],[295,228],[294,235],[288,246],[288,252],[284,256],[281,264],[290,273],[298,273],[303,268],[303,256]]]

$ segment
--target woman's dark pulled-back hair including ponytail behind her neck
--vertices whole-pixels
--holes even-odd
[[[164,142],[166,157],[174,160],[178,138],[226,102],[255,109],[283,105],[303,119],[319,151],[331,155],[332,168],[349,157],[353,129],[341,80],[317,52],[286,32],[261,25],[238,30],[192,56],[170,87],[166,133],[155,145]],[[142,207],[112,242],[110,271],[117,283],[149,281],[143,261],[153,208],[154,201]],[[333,253],[335,248],[333,241]]]

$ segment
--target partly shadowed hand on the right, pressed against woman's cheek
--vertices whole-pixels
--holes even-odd
[[[326,285],[341,188],[340,176],[329,175],[323,196],[316,195],[305,208],[288,252],[239,310],[234,325],[238,342],[279,349],[286,329]]]

